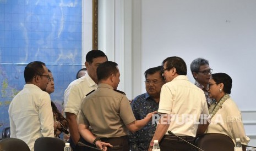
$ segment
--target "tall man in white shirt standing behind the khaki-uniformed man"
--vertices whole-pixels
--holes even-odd
[[[64,112],[68,120],[69,133],[70,133],[70,146],[73,151],[83,150],[78,147],[77,143],[80,140],[86,143],[83,138],[80,139],[78,131],[78,120],[80,114],[81,103],[89,92],[97,89],[97,74],[96,69],[100,65],[107,61],[107,56],[100,50],[91,50],[86,54],[85,67],[87,74],[83,77],[74,80],[68,85],[68,88],[64,92]]]

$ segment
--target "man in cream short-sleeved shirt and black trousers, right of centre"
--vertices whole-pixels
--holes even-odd
[[[193,143],[200,114],[209,115],[203,90],[189,82],[187,66],[180,57],[167,57],[162,62],[166,84],[162,86],[158,113],[161,114],[150,142],[160,142],[161,150],[195,150],[190,144],[168,135],[168,131]]]

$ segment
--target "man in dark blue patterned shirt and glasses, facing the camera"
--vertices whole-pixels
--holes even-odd
[[[144,119],[148,113],[157,111],[161,88],[165,84],[164,77],[162,77],[162,66],[149,68],[144,75],[146,93],[135,97],[132,102],[133,114],[136,120]],[[149,143],[156,130],[157,119],[154,121],[155,123],[150,121],[141,130],[130,133],[129,144],[131,151],[148,150]]]

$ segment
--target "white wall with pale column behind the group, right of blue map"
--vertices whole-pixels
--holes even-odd
[[[101,31],[102,48],[123,68],[119,88],[128,98],[145,92],[144,71],[161,65],[166,57],[182,57],[192,82],[190,62],[204,57],[214,73],[225,72],[233,79],[231,97],[242,111],[247,135],[254,139],[249,144],[256,146],[256,1],[107,2],[105,23],[100,24],[107,27]]]

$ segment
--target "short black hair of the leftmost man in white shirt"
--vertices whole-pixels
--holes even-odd
[[[24,69],[25,82],[31,82],[36,75],[42,75],[45,72],[43,66],[45,66],[45,63],[41,61],[33,61],[26,65]]]

